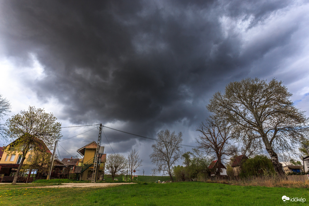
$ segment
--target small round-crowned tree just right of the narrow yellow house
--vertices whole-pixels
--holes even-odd
[[[106,159],[106,170],[112,175],[114,180],[118,172],[123,172],[128,168],[128,160],[122,154],[109,154]]]

